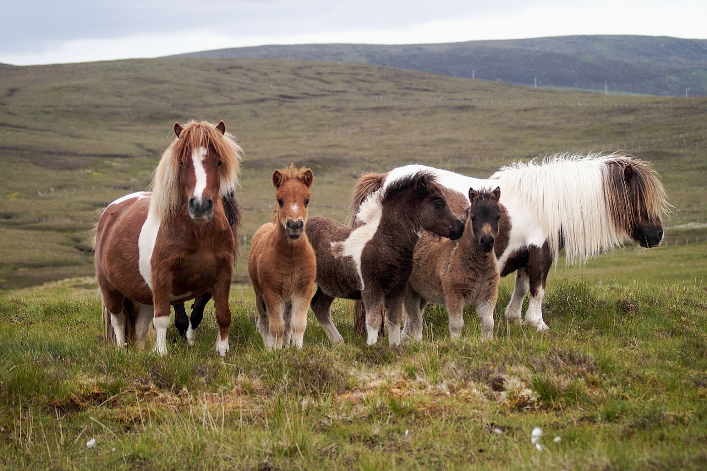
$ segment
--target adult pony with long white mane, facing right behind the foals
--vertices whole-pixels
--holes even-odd
[[[522,302],[530,291],[525,322],[537,330],[548,328],[542,318],[542,298],[547,274],[561,249],[568,264],[581,264],[625,240],[652,248],[662,240],[661,217],[670,214],[665,190],[650,163],[618,153],[557,154],[541,162],[505,166],[489,179],[406,165],[379,174],[378,185],[395,185],[420,171],[458,192],[501,187],[501,204],[511,227],[508,245],[503,250],[497,246],[495,252],[501,277],[516,272],[506,318],[522,323]],[[358,189],[361,194],[354,197],[354,205],[370,187],[369,183]],[[361,330],[362,315],[356,324]]]

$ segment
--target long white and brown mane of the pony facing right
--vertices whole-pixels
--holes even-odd
[[[626,181],[629,165],[633,175]],[[491,178],[501,182],[506,197],[530,208],[554,259],[564,248],[568,264],[622,245],[642,212],[649,219],[670,214],[655,170],[633,156],[561,153],[506,165]]]

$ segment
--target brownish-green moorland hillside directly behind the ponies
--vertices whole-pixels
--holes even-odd
[[[419,162],[489,175],[519,158],[623,150],[653,161],[676,236],[707,234],[707,98],[507,86],[399,69],[151,59],[0,69],[0,288],[89,275],[90,227],[145,189],[175,121],[225,120],[246,152],[244,233],[271,216],[274,168],[315,172],[310,214],[344,220],[363,171]],[[236,279],[245,280],[243,257]]]

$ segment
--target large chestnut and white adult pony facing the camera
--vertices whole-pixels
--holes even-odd
[[[155,351],[167,352],[170,305],[209,293],[216,305],[216,351],[228,352],[233,233],[221,197],[238,183],[240,147],[223,121],[175,123],[152,192],[128,194],[103,211],[95,270],[106,338],[142,347],[150,322]]]

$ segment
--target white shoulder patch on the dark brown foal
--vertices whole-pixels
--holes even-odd
[[[332,242],[332,253],[334,257],[351,257],[356,264],[356,272],[358,280],[361,282],[360,289],[366,286],[363,283],[363,272],[361,272],[361,255],[363,248],[369,240],[373,238],[378,231],[378,224],[383,215],[383,206],[380,201],[380,191],[370,194],[366,201],[361,204],[361,208],[356,214],[356,219],[363,223],[363,226],[358,226],[354,229],[346,240],[341,242]]]

